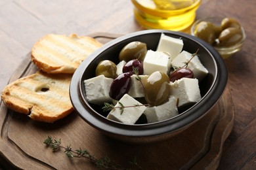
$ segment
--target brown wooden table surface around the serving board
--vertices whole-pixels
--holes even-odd
[[[225,59],[235,122],[224,143],[218,169],[256,168],[255,7],[255,0],[202,0],[197,11],[198,19],[207,16],[236,18],[247,34],[242,51]],[[142,29],[134,19],[131,1],[1,0],[0,91],[33,44],[48,33],[127,34]]]

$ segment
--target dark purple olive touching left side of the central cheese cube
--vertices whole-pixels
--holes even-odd
[[[132,59],[123,66],[123,73],[132,72],[135,74],[133,67],[137,69],[139,75],[143,75],[143,63],[138,59]]]

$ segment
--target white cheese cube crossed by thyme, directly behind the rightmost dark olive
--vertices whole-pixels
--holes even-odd
[[[182,51],[173,61],[171,65],[173,67],[183,67],[192,58],[192,54],[186,51]],[[192,70],[194,73],[194,78],[198,78],[201,81],[208,73],[207,69],[202,65],[198,56],[194,56],[188,63],[188,69]]]

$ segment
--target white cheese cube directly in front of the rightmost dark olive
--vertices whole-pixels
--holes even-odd
[[[170,95],[178,98],[178,107],[196,103],[202,98],[196,78],[181,78],[170,84]]]

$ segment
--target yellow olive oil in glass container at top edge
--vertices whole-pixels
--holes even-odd
[[[135,19],[146,29],[184,31],[193,24],[201,0],[131,0]]]

